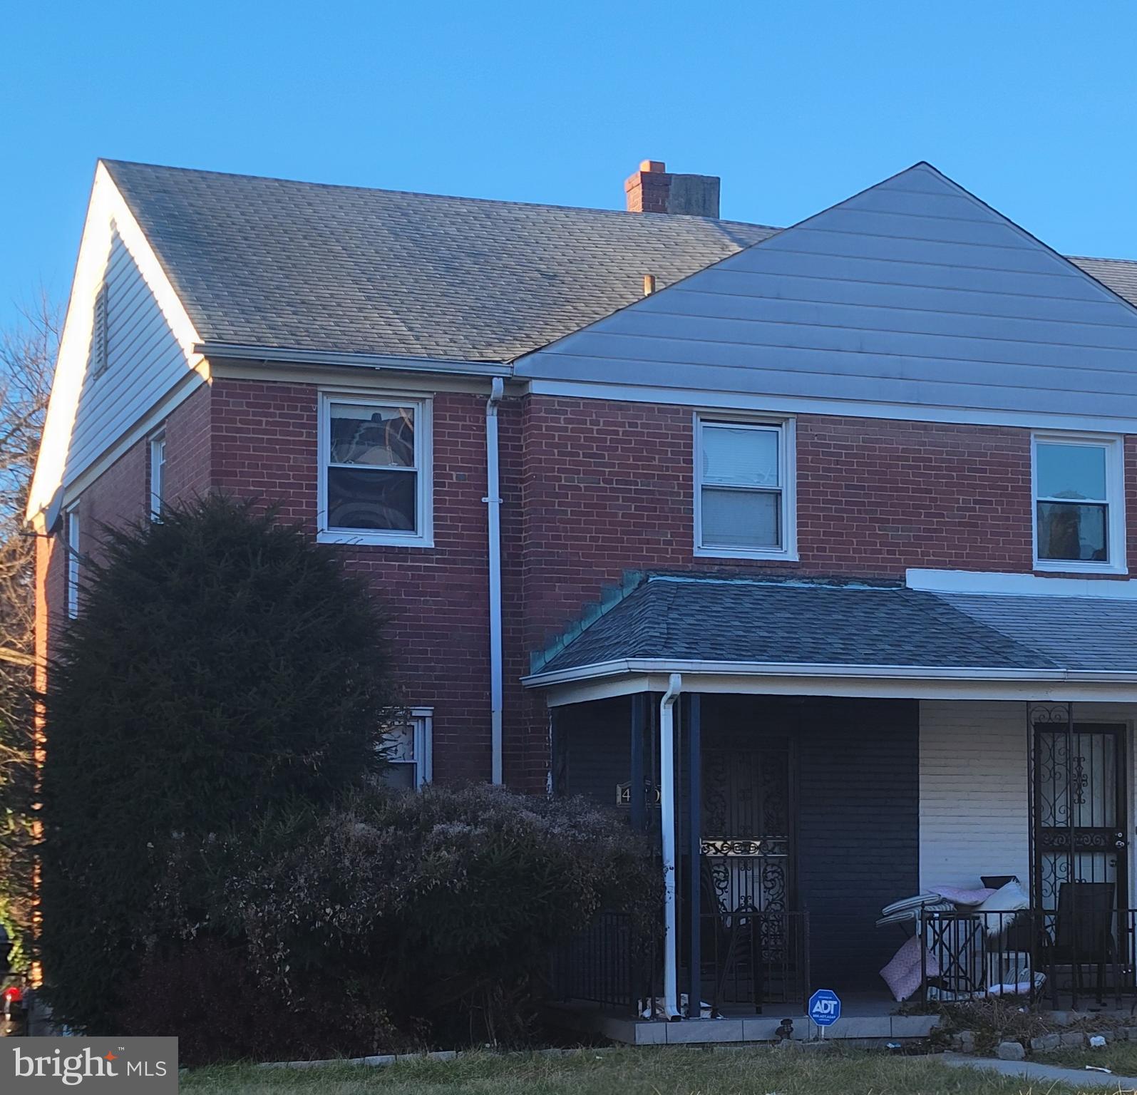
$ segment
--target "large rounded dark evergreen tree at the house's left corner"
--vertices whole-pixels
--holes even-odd
[[[109,1031],[172,849],[364,783],[391,689],[382,616],[331,549],[209,496],[103,528],[44,697],[43,930],[57,1018]],[[193,902],[193,874],[186,879]]]

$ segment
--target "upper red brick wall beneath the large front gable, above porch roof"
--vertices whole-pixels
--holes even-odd
[[[692,549],[689,408],[525,404],[525,634],[534,646],[628,570],[899,579],[910,566],[1032,567],[1027,429],[798,415],[799,562],[712,559]],[[1134,553],[1137,438],[1127,439],[1127,465]]]

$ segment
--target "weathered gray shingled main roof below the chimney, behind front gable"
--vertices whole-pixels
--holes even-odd
[[[266,349],[507,362],[778,232],[103,163],[202,339]],[[1074,262],[1137,304],[1137,263]]]

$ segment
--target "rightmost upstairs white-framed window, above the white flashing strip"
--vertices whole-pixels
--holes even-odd
[[[1031,481],[1036,570],[1126,573],[1120,437],[1035,433]]]

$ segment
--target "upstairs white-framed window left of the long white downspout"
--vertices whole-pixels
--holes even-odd
[[[429,399],[321,393],[319,539],[432,547]]]

